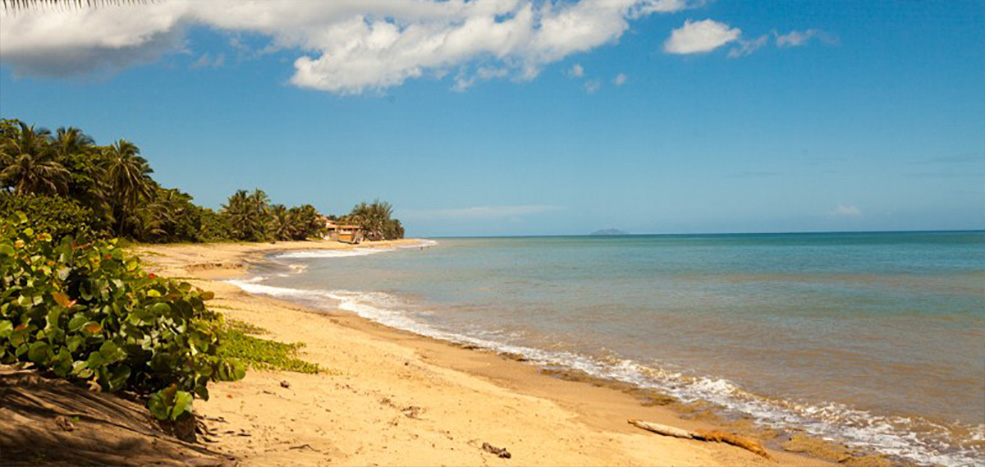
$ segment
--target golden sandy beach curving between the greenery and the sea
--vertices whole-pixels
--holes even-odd
[[[365,243],[387,247],[413,240]],[[390,329],[342,311],[314,311],[250,295],[244,277],[267,254],[351,248],[337,242],[142,246],[157,274],[216,293],[227,319],[303,342],[319,374],[248,372],[195,401],[205,445],[244,465],[830,465],[771,451],[774,461],[719,443],[668,438],[638,418],[713,429],[616,388],[550,377],[522,362]],[[510,458],[483,450],[506,448]]]

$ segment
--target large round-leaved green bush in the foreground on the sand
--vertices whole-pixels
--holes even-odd
[[[142,270],[116,240],[54,239],[27,216],[0,220],[0,362],[30,361],[104,391],[149,394],[161,420],[245,374],[219,355],[211,292]]]

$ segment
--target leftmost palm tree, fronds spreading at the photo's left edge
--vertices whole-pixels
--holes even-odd
[[[69,172],[55,159],[50,135],[46,129],[20,123],[20,131],[0,146],[4,166],[0,181],[19,195],[64,192]]]

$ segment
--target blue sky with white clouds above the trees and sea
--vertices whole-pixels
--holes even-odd
[[[985,228],[985,2],[0,12],[0,116],[409,236]]]

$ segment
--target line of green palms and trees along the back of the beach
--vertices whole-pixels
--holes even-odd
[[[131,142],[99,146],[78,128],[54,133],[0,120],[0,214],[27,214],[53,236],[94,235],[140,242],[304,240],[324,233],[313,206],[273,204],[262,190],[240,190],[218,212],[155,181]],[[341,222],[370,240],[403,238],[389,203],[360,203]],[[335,216],[329,216],[335,219]]]

